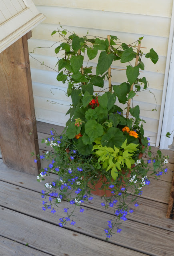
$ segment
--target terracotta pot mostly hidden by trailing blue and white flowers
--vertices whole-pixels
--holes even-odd
[[[142,146],[142,148],[144,148],[144,146]],[[138,159],[142,158],[143,156],[143,153],[140,153],[139,156],[138,156]],[[135,167],[135,164],[132,164],[131,166],[131,169]],[[131,169],[129,170],[129,173],[127,175],[128,178],[130,178],[130,174],[131,174]],[[126,172],[124,170],[122,170],[122,174],[124,175]],[[89,182],[89,186],[90,188],[93,188],[95,190],[91,190],[91,194],[93,195],[96,195],[96,196],[106,196],[106,197],[110,197],[112,196],[112,193],[110,190],[104,190],[103,188],[100,189],[103,185],[103,182],[106,183],[106,184],[109,184],[109,182],[106,182],[106,178],[103,177],[101,178],[95,185],[92,185],[90,182]],[[122,188],[122,186],[124,186],[125,184],[125,181],[122,179],[122,185],[120,186],[120,188]]]

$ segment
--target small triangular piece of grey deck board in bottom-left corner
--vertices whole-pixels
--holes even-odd
[[[30,246],[30,245],[29,245]],[[49,256],[44,252],[35,250],[24,244],[0,236],[0,255],[1,256]]]

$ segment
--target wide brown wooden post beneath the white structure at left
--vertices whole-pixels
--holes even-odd
[[[0,54],[0,148],[4,164],[37,175],[40,160],[27,34]],[[29,133],[32,134],[29,134]]]

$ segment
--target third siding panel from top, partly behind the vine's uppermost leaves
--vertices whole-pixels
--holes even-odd
[[[94,28],[88,29],[88,28],[71,27],[71,26],[64,26],[64,28],[67,29],[68,31],[76,32],[78,36],[86,35],[87,30],[89,30],[89,35],[95,35],[95,36],[97,35],[104,38],[106,38],[108,35],[108,30],[100,30],[100,29],[94,29]],[[60,37],[58,34],[54,34],[54,36],[51,36],[51,33],[54,30],[57,30],[57,26],[55,24],[40,23],[38,26],[36,26],[32,30],[32,38],[52,41],[50,42],[50,44],[49,42],[47,42],[47,44],[51,46],[52,44],[54,44],[54,42],[60,41]],[[118,31],[110,31],[109,33],[113,36],[117,36],[121,40],[121,42],[125,42],[126,44],[135,42],[139,37],[144,36],[141,43],[142,47],[147,48],[147,49],[142,48],[142,51],[144,53],[148,52],[151,48],[154,48],[156,49],[156,52],[158,53],[158,55],[167,56],[168,38],[143,35],[142,33],[131,34],[128,32],[124,33],[124,32],[118,32]],[[69,34],[67,34],[67,36],[69,36]],[[30,40],[28,42],[30,42]]]

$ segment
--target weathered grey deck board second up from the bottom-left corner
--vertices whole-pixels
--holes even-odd
[[[42,250],[51,255],[62,256],[68,254],[70,256],[105,256],[108,254],[108,251],[110,252],[110,255],[114,255],[115,252],[124,256],[144,255],[140,252],[122,248],[121,246],[106,241],[101,241],[65,228],[60,228],[7,208],[3,208],[3,210],[0,208],[0,216],[2,220],[0,235],[15,239],[16,242],[28,243],[32,248]],[[161,235],[162,238],[165,238],[164,234]],[[169,237],[168,242],[166,241],[166,243],[168,244],[168,247],[166,247],[165,250],[168,255],[172,256],[172,254],[170,254],[172,239]],[[144,244],[146,244],[146,242],[144,242]],[[158,246],[156,247],[157,250],[159,250]],[[164,249],[160,249],[162,252],[164,251]],[[161,254],[160,250],[159,253],[159,255],[164,255]]]

